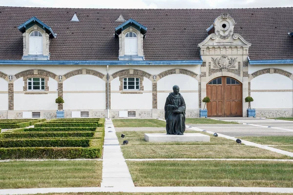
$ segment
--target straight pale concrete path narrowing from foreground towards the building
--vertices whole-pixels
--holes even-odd
[[[123,140],[121,139],[121,141]],[[134,187],[111,119],[105,120],[105,142],[101,187]]]

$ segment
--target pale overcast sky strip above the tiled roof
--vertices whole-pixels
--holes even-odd
[[[293,0],[0,0],[1,6],[71,8],[293,7]]]

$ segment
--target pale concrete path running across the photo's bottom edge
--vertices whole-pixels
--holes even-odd
[[[293,193],[293,188],[259,188],[259,187],[92,187],[92,188],[31,188],[5,189],[0,195],[27,195],[46,193],[87,193],[87,192],[126,192],[126,193],[156,193],[156,192],[242,192],[242,193]]]

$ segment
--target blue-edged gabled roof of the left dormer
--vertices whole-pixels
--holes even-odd
[[[53,30],[51,29],[50,26],[48,26],[47,24],[45,24],[44,22],[42,22],[41,20],[37,19],[36,17],[33,17],[29,20],[26,20],[23,24],[21,24],[18,29],[21,31],[21,33],[24,33],[26,31],[26,29],[32,27],[33,25],[37,24],[38,26],[40,26],[42,29],[44,29],[46,31],[46,33],[48,33],[48,35],[50,37],[57,37],[57,34],[55,34],[53,32]]]

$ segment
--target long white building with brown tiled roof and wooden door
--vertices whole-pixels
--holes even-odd
[[[0,118],[293,116],[293,8],[0,7]]]

